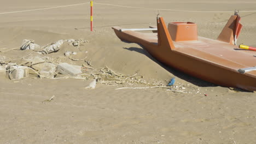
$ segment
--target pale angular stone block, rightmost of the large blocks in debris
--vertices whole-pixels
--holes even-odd
[[[79,75],[82,74],[80,66],[78,65],[70,65],[68,63],[61,63],[59,65],[57,65],[57,72],[63,74],[63,75],[71,75],[71,76],[75,76],[75,75]]]

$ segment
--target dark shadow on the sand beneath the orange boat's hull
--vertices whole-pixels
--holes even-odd
[[[125,43],[127,43],[127,41],[124,41]],[[129,42],[128,42],[129,43]],[[140,45],[141,47],[143,47],[142,45]],[[138,47],[124,47],[123,49],[126,49],[126,50],[129,50],[129,51],[136,51],[138,53],[142,53],[143,55],[146,55],[147,57],[149,57],[150,59],[152,59],[152,61],[158,63],[161,67],[163,67],[164,69],[166,69],[167,71],[169,71],[170,73],[172,73],[174,76],[177,76],[179,77],[180,79],[183,79],[185,81],[188,81],[190,83],[193,83],[194,85],[196,86],[199,86],[199,87],[216,87],[218,85],[215,85],[214,83],[211,83],[211,82],[207,82],[207,81],[204,81],[204,80],[201,80],[201,79],[198,79],[194,76],[190,76],[188,74],[185,74],[183,73],[182,71],[179,71],[179,70],[176,70],[172,67],[169,67],[159,61],[157,61],[153,56],[151,56],[146,50],[141,49],[141,48],[138,48]],[[173,59],[175,60],[175,59]],[[171,80],[172,77],[170,77],[170,80]]]

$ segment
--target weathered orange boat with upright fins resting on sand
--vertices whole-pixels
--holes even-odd
[[[197,36],[193,22],[170,22],[166,27],[162,17],[157,17],[155,28],[112,28],[121,40],[141,44],[158,61],[184,73],[220,86],[256,91],[256,52],[237,50],[235,45],[240,19],[232,15],[217,40]]]

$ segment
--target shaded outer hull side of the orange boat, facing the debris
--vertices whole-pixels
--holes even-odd
[[[138,43],[146,49],[150,55],[158,61],[169,65],[175,69],[181,70],[184,73],[195,76],[199,79],[215,83],[224,87],[236,87],[248,91],[256,91],[256,74],[255,71],[246,74],[238,73],[237,69],[226,67],[238,67],[239,64],[226,61],[225,58],[214,57],[208,53],[194,50],[194,53],[201,53],[202,57],[215,58],[216,61],[224,61],[224,64],[207,61],[202,57],[195,57],[189,53],[182,52],[182,49],[176,48],[171,50],[170,47],[158,43],[149,42],[149,40],[140,37],[137,33],[121,32],[119,27],[113,27],[115,34],[119,39],[129,41],[131,43]],[[158,36],[159,39],[159,34]],[[250,64],[254,64],[251,62]],[[255,63],[256,65],[256,63]]]

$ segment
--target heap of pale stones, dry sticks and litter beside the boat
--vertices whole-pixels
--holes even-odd
[[[92,65],[92,59],[87,58],[88,51],[81,51],[80,49],[79,51],[77,51],[75,49],[72,50],[72,47],[68,47],[68,50],[62,50],[62,52],[65,51],[64,55],[63,53],[62,55],[57,55],[57,57],[56,55],[48,55],[44,57],[41,55],[58,52],[61,49],[61,45],[63,43],[68,43],[69,45],[76,46],[74,48],[77,49],[84,43],[88,43],[88,41],[83,39],[58,40],[49,45],[40,47],[39,45],[34,43],[34,40],[26,39],[23,41],[20,49],[32,50],[33,52],[29,53],[26,56],[18,58],[7,58],[5,56],[1,56],[0,64],[2,65],[2,70],[0,71],[6,72],[9,79],[15,80],[25,79],[30,74],[46,79],[94,79],[88,86],[85,87],[85,89],[94,89],[96,88],[97,83],[110,86],[120,84],[127,84],[129,86],[143,84],[147,85],[147,87],[124,88],[166,88],[167,91],[187,93],[184,91],[184,86],[179,86],[178,84],[175,87],[172,86],[175,82],[175,77],[171,79],[171,81],[168,83],[168,86],[165,86],[162,81],[146,81],[144,80],[143,76],[139,76],[137,73],[133,75],[123,75],[117,73],[116,71],[110,69],[107,66],[103,68],[94,68],[94,65]],[[78,55],[80,59],[73,58],[75,55]]]

